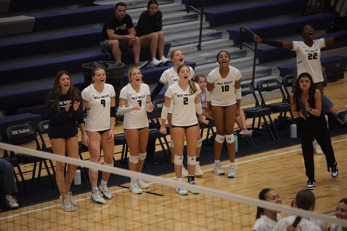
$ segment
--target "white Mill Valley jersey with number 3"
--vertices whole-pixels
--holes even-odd
[[[123,127],[125,129],[136,129],[149,126],[146,112],[146,99],[147,96],[150,95],[150,88],[145,83],[140,84],[140,91],[137,93],[130,83],[120,90],[119,99],[127,101],[126,107],[141,106],[140,111],[132,110],[124,115]]]

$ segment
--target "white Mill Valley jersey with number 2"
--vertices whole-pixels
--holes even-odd
[[[190,86],[184,91],[178,86],[178,82],[171,85],[166,91],[165,97],[174,102],[172,125],[190,126],[197,124],[194,100],[200,94],[201,90],[197,83],[194,84],[197,89],[194,94],[189,92]]]

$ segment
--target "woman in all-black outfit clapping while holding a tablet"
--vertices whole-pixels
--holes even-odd
[[[305,104],[308,118],[305,119],[300,109],[297,97]],[[327,160],[328,171],[331,168],[331,177],[336,179],[339,176],[334,150],[331,146],[331,139],[322,113],[322,96],[320,90],[314,87],[312,77],[308,73],[301,73],[298,76],[294,93],[290,95],[291,112],[297,119],[297,128],[300,136],[302,151],[305,162],[306,176],[308,177],[306,189],[312,190],[316,184],[314,179],[314,161],[312,136],[315,137],[324,152]]]

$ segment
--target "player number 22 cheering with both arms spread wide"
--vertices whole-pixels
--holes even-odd
[[[333,38],[313,39],[313,26],[306,25],[299,28],[298,32],[305,39],[304,41],[276,42],[261,39],[254,35],[253,40],[274,47],[287,48],[296,52],[297,75],[309,73],[312,76],[314,86],[323,94],[323,74],[321,68],[321,48],[330,44],[347,39],[347,34]]]

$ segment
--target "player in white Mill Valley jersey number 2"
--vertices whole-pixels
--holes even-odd
[[[202,123],[208,124],[209,121],[203,119],[202,109],[199,99],[201,92],[199,85],[189,79],[190,70],[187,65],[181,65],[177,69],[179,81],[171,85],[165,93],[165,103],[161,112],[160,132],[166,134],[165,122],[168,116],[171,100],[174,107],[172,110],[172,133],[171,136],[175,143],[175,172],[178,182],[182,180],[183,164],[183,148],[184,136],[187,142],[187,164],[188,164],[188,184],[196,185],[194,180],[194,172],[196,165],[196,134],[198,133],[198,121],[195,112],[198,114]],[[180,195],[187,195],[188,191],[182,188],[176,188],[176,192]],[[189,191],[193,194],[197,192]]]

